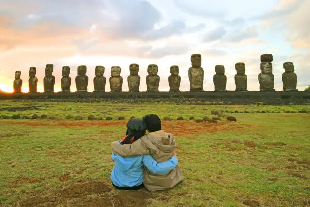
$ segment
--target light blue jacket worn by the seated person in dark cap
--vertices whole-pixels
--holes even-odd
[[[143,166],[154,174],[165,175],[174,169],[178,159],[172,156],[166,162],[157,163],[151,155],[139,155],[136,157],[122,157],[112,153],[115,166],[111,173],[111,180],[118,187],[133,187],[143,183]]]

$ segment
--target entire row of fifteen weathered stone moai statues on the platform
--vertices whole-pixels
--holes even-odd
[[[272,74],[271,54],[263,54],[260,57],[260,70],[258,75],[260,91],[274,91],[274,75]],[[53,64],[47,64],[45,68],[45,77],[43,79],[44,92],[54,92],[55,77],[53,76]],[[283,64],[285,72],[282,74],[283,91],[297,91],[297,76],[294,73],[294,65],[292,62]],[[245,74],[245,64],[238,62],[235,64],[237,74],[235,75],[235,91],[247,91],[247,75]],[[139,92],[141,77],[138,64],[130,64],[130,75],[127,77],[129,92]],[[76,89],[78,92],[87,92],[88,76],[86,75],[87,67],[85,65],[78,66],[78,76],[75,78]],[[106,78],[103,76],[105,72],[104,66],[96,66],[94,77],[94,92],[105,92]],[[160,77],[157,75],[158,66],[150,64],[147,68],[148,76],[146,76],[147,92],[158,92]],[[214,90],[226,91],[227,77],[225,75],[225,67],[223,65],[215,66],[215,75],[213,76]],[[36,68],[30,67],[29,70],[29,92],[37,92],[38,79],[35,77]],[[170,76],[168,78],[170,92],[180,92],[181,77],[179,76],[179,67],[173,65],[170,67]],[[71,78],[70,67],[62,67],[61,90],[62,92],[70,92]],[[14,92],[21,92],[22,80],[21,72],[15,72]],[[201,55],[191,55],[191,67],[188,70],[191,92],[203,91],[204,70],[201,67]],[[123,78],[121,77],[121,68],[119,66],[111,67],[110,89],[111,92],[121,92]]]

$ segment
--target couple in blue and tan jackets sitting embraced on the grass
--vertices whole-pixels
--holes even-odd
[[[155,114],[127,123],[126,136],[112,143],[113,185],[123,190],[167,190],[183,180],[175,154],[175,139],[161,129]]]

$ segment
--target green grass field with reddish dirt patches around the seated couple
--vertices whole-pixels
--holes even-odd
[[[298,113],[310,105],[25,100],[0,101],[0,109],[48,116],[0,119],[0,206],[310,206],[310,114]],[[211,118],[212,110],[238,121],[189,120]],[[174,119],[162,124],[176,137],[185,179],[164,192],[124,193],[111,186],[110,144],[124,136],[129,117],[149,113]],[[89,121],[90,114],[113,120]]]

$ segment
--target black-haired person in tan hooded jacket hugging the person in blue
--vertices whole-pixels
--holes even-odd
[[[113,153],[123,157],[150,154],[157,162],[168,161],[176,147],[174,136],[161,130],[161,120],[157,115],[146,115],[143,120],[149,133],[132,144],[120,145],[117,141],[113,142]],[[166,175],[153,174],[146,167],[143,168],[143,184],[149,191],[170,189],[183,179],[183,172],[178,165]]]

